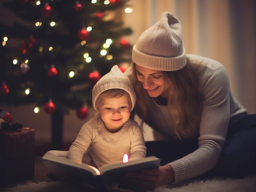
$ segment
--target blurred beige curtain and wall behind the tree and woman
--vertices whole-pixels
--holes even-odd
[[[164,11],[173,13],[182,24],[186,52],[221,62],[227,68],[233,95],[249,113],[256,113],[255,0],[131,0],[128,4],[132,13],[121,10],[117,16],[132,28],[133,34],[127,37],[131,44]],[[0,7],[1,22],[8,15],[10,11]],[[1,107],[12,114],[14,122],[35,128],[37,145],[51,142],[50,116],[43,110],[35,114],[33,104]],[[71,143],[94,113],[90,108],[89,117],[81,120],[70,110],[65,115],[63,141]],[[145,139],[153,139],[152,132],[147,133]]]

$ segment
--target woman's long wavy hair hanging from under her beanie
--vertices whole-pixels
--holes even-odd
[[[190,139],[199,134],[203,96],[198,89],[198,75],[196,73],[202,68],[202,65],[192,64],[187,59],[184,68],[178,71],[163,71],[163,77],[170,90],[168,95],[168,122],[173,126],[176,137],[180,140]],[[137,79],[134,62],[132,62],[132,71],[132,84],[138,106],[136,112],[142,119],[142,127],[147,113],[147,104],[144,99],[146,91]]]

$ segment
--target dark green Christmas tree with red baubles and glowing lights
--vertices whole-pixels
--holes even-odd
[[[0,25],[0,103],[34,103],[52,115],[52,145],[61,148],[69,109],[86,118],[94,84],[130,62],[130,28],[118,21],[127,0],[12,0],[24,22]],[[37,110],[38,108],[35,108]]]

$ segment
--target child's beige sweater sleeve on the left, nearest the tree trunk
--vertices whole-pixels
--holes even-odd
[[[75,141],[70,146],[67,153],[67,159],[82,162],[83,155],[92,143],[92,119],[85,123]]]

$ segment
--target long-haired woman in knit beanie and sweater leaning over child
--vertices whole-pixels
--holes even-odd
[[[154,189],[204,173],[256,173],[256,115],[232,96],[222,64],[186,55],[174,15],[163,13],[141,34],[127,73],[137,94],[134,112],[169,141],[147,142],[147,156],[159,157],[162,166],[129,173],[124,184]]]

